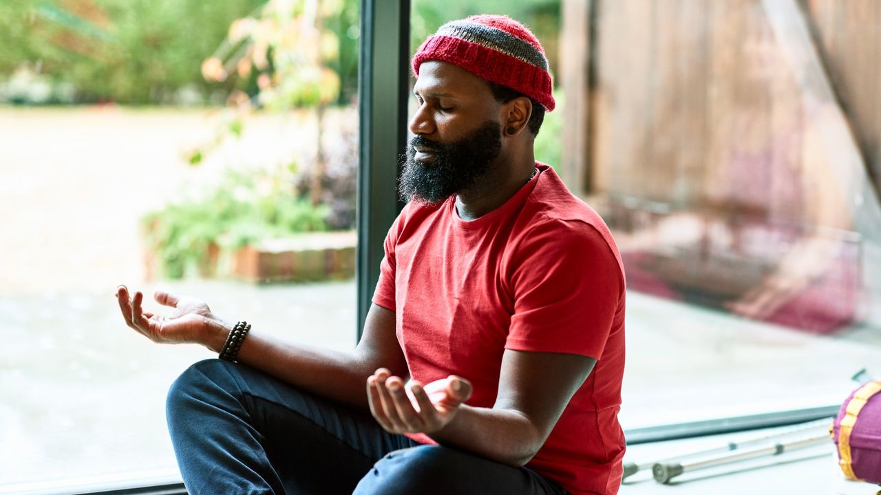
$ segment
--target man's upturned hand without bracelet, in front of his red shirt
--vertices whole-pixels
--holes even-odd
[[[390,433],[437,432],[453,420],[470,395],[470,382],[455,375],[424,387],[415,380],[404,383],[385,368],[367,379],[370,412]]]

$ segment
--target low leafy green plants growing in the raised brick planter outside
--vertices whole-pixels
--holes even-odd
[[[287,166],[251,174],[228,172],[207,195],[144,216],[147,246],[162,274],[181,278],[211,273],[220,251],[327,230],[329,208],[292,193],[295,170]]]

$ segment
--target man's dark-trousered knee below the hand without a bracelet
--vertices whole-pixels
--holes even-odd
[[[448,447],[420,446],[396,450],[374,464],[354,493],[388,495],[451,493],[451,476],[466,454]]]

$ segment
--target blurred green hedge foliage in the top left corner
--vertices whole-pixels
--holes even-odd
[[[263,0],[7,0],[0,2],[0,78],[30,67],[75,88],[75,100],[168,103],[217,85],[199,67],[231,19]]]

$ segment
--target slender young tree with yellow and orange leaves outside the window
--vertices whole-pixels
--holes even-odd
[[[342,81],[337,70],[344,67],[340,64],[344,24],[331,19],[351,18],[352,5],[352,0],[269,0],[252,15],[234,20],[226,39],[202,63],[202,75],[218,83],[231,78],[255,81],[255,87],[229,94],[223,116],[227,125],[212,142],[188,151],[189,163],[197,165],[226,136],[240,136],[255,107],[272,112],[314,107],[317,154],[309,167],[308,196],[313,204],[322,203],[327,170],[324,116],[339,98]],[[351,43],[344,46],[353,48]]]

